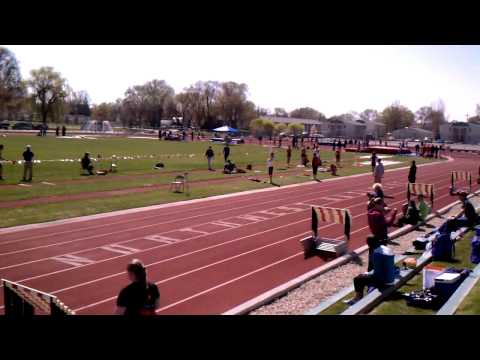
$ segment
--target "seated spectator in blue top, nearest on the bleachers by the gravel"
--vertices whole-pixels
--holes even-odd
[[[383,289],[385,286],[393,283],[395,267],[393,264],[393,253],[385,245],[378,245],[373,250],[373,270],[357,275],[353,279],[355,288],[355,297],[347,301],[348,305],[353,305],[363,297],[365,287]],[[387,260],[388,259],[388,260]]]

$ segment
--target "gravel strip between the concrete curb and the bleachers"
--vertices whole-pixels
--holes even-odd
[[[470,201],[475,207],[480,206],[480,198],[478,196],[473,197]],[[460,205],[455,206],[443,216],[455,215],[458,211],[460,211]],[[437,227],[444,221],[445,219],[433,218],[429,221],[429,224]],[[423,229],[427,232],[431,230],[426,227],[423,227]],[[398,243],[398,245],[389,246],[395,254],[402,254],[412,246],[413,240],[423,234],[425,234],[425,231],[412,231],[395,239],[394,242]],[[319,275],[274,302],[250,312],[249,315],[302,315],[309,309],[317,306],[322,300],[352,285],[352,279],[356,275],[367,271],[367,264],[368,253],[364,253],[357,261],[352,261]]]

